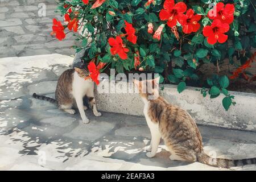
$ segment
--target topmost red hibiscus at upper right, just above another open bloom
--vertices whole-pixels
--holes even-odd
[[[232,23],[234,20],[234,5],[219,2],[212,10],[208,11],[208,18],[219,19],[222,23]]]

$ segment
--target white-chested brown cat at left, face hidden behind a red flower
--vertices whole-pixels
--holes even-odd
[[[86,77],[89,76],[86,69],[68,69],[64,71],[57,82],[57,87],[55,91],[55,99],[46,96],[38,96],[36,93],[33,94],[34,98],[39,100],[49,101],[53,104],[57,104],[59,109],[75,114],[76,111],[72,107],[77,107],[79,109],[82,122],[89,123],[89,119],[86,117],[84,110],[88,109],[84,106],[83,98],[88,97],[90,105],[93,109],[93,114],[97,117],[101,116],[96,107],[96,101],[94,98],[94,82]]]

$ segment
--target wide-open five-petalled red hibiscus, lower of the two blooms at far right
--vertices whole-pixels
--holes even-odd
[[[209,44],[215,44],[217,41],[219,43],[224,43],[228,39],[228,35],[225,32],[229,31],[228,23],[221,23],[220,20],[214,19],[211,26],[205,26],[203,29],[203,34],[207,38]]]

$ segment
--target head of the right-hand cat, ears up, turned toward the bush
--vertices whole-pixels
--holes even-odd
[[[148,100],[154,100],[159,96],[159,78],[157,77],[154,80],[133,80],[134,85],[139,91],[139,94],[143,98]]]

